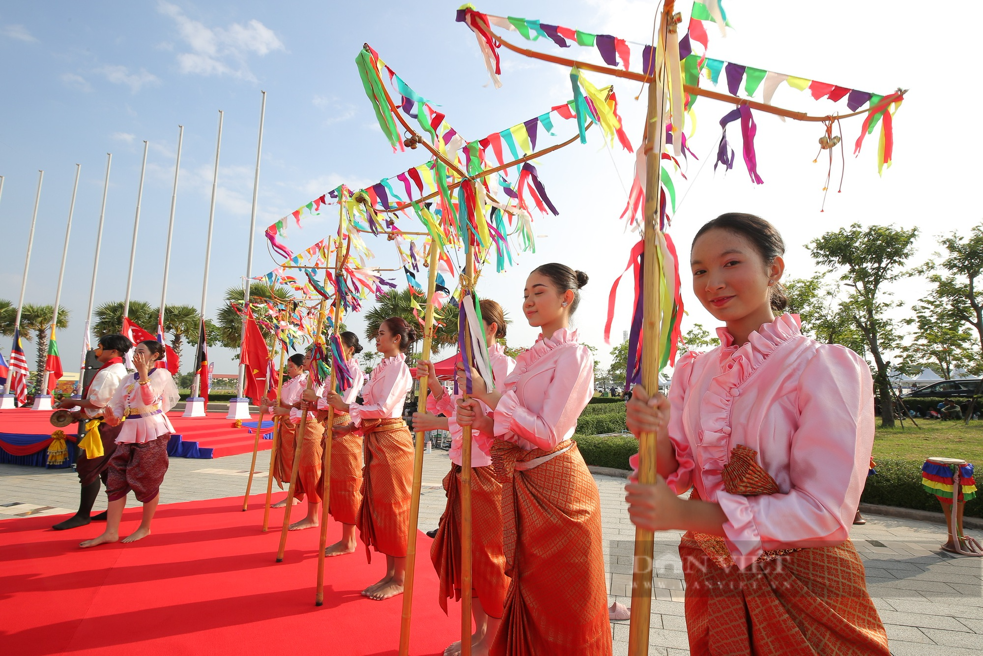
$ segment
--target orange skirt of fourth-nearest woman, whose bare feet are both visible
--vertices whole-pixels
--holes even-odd
[[[413,488],[413,438],[402,419],[365,421],[362,505],[359,533],[372,563],[372,550],[406,557]]]

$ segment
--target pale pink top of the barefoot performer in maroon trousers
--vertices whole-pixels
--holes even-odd
[[[166,369],[151,369],[146,385],[140,385],[138,374],[124,378],[106,405],[114,416],[125,417],[116,443],[144,444],[173,433],[167,412],[179,398],[174,378]]]

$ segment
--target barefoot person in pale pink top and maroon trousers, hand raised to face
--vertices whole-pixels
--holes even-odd
[[[136,542],[150,534],[150,520],[157,510],[160,484],[167,472],[167,443],[174,432],[167,412],[180,398],[170,373],[154,368],[154,363],[163,357],[163,344],[152,340],[138,344],[133,353],[137,373],[123,379],[112,400],[102,409],[107,424],[116,426],[122,421],[123,427],[116,438],[116,451],[109,460],[106,528],[102,535],[86,540],[80,547],[119,539],[123,508],[131,490],[144,505],[144,518],[140,528],[123,538],[123,542]]]

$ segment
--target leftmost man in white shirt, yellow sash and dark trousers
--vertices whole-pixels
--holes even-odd
[[[95,349],[95,357],[102,364],[95,378],[83,390],[82,398],[65,398],[58,403],[59,408],[77,408],[72,412],[72,416],[80,422],[80,442],[86,422],[102,418],[102,409],[112,399],[119,388],[120,383],[127,376],[126,365],[123,358],[133,347],[133,343],[121,334],[107,334],[99,338],[99,346]],[[92,505],[96,497],[99,496],[99,480],[106,482],[106,470],[109,467],[109,460],[116,450],[116,437],[119,435],[122,423],[116,426],[109,426],[103,421],[99,421],[99,442],[102,443],[102,455],[91,454],[89,457],[86,449],[79,449],[79,456],[76,461],[76,472],[79,474],[79,482],[82,484],[82,499],[79,502],[79,511],[72,517],[63,522],[57,523],[51,528],[62,531],[66,528],[76,528],[85,526],[92,519],[105,520],[106,513],[100,512],[94,517],[89,517]]]

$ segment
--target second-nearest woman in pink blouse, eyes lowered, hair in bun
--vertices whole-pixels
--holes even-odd
[[[522,308],[542,331],[539,340],[516,359],[501,388],[488,391],[472,372],[474,398],[458,405],[460,425],[495,437],[492,467],[502,483],[512,578],[494,641],[479,643],[473,654],[611,653],[601,499],[571,440],[594,395],[594,359],[569,328],[586,284],[586,273],[564,265],[530,273]]]

